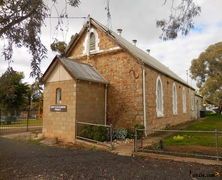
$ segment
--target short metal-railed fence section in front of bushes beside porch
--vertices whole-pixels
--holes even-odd
[[[113,149],[112,125],[77,122],[77,139],[102,144]]]

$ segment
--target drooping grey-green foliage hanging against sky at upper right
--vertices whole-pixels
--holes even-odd
[[[195,0],[165,0],[164,5],[171,2],[171,14],[169,19],[162,19],[156,22],[157,27],[161,28],[163,40],[175,39],[178,34],[187,35],[194,27],[193,19],[201,12],[200,6]]]

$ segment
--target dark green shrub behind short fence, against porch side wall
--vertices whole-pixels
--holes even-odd
[[[79,135],[88,139],[101,142],[109,140],[108,129],[106,127],[101,126],[98,127],[86,125],[81,128]]]

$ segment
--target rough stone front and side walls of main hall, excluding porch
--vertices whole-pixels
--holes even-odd
[[[98,53],[86,56],[83,44],[86,33],[79,39],[70,53],[70,58],[93,65],[106,80],[108,87],[108,122],[116,127],[132,128],[143,124],[142,66],[127,51],[119,47],[113,39],[97,29],[99,35]],[[114,47],[119,47],[115,49]],[[114,48],[112,50],[112,48]],[[109,50],[106,52],[106,50]],[[164,116],[156,115],[156,78],[160,75],[164,89]],[[172,111],[172,84],[177,87],[178,114]],[[182,107],[182,89],[186,91],[186,113]],[[149,128],[165,128],[191,120],[191,94],[193,90],[174,81],[156,70],[146,67],[146,116]]]

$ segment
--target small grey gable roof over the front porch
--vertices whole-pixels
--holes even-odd
[[[76,80],[108,84],[108,81],[106,81],[93,66],[60,56],[56,56],[53,59],[42,77],[42,82],[47,80],[53,70],[53,67],[55,67],[57,63],[61,63],[66,71]]]

